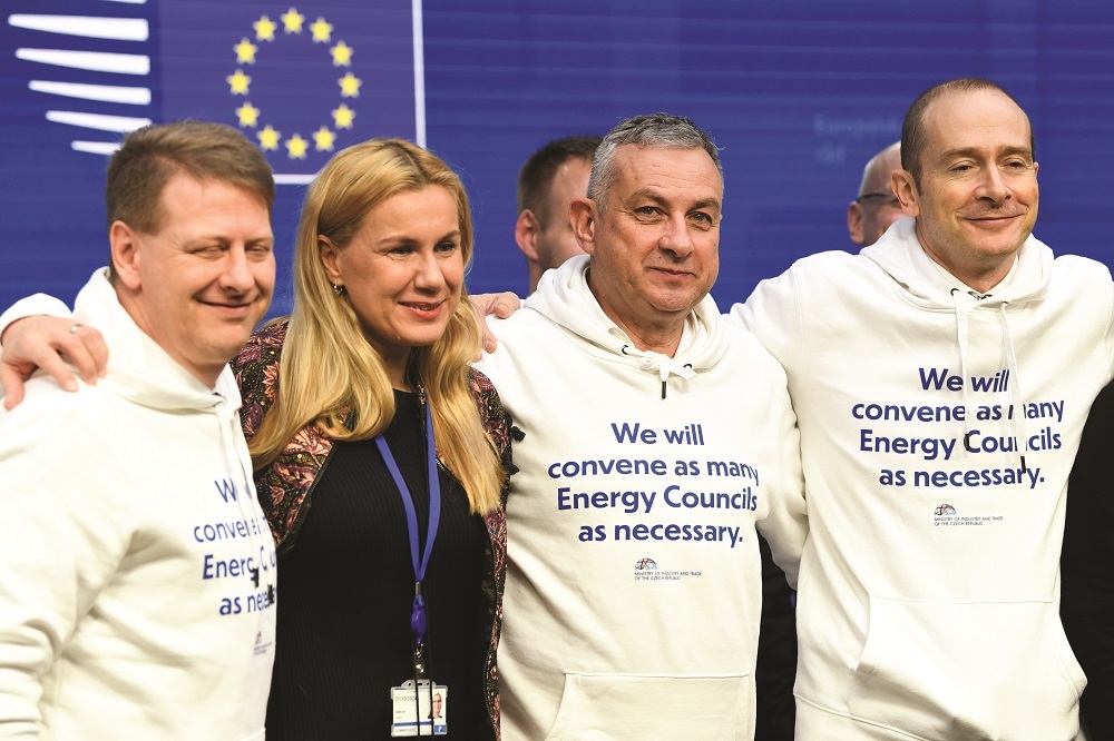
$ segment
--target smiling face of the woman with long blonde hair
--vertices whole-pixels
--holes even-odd
[[[392,382],[410,350],[432,345],[460,304],[465,281],[457,201],[442,186],[403,190],[375,205],[343,249],[319,237],[333,285],[344,286]]]

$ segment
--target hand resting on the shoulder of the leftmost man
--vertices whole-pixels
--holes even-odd
[[[0,337],[0,385],[4,389],[3,405],[13,408],[23,401],[23,382],[36,368],[50,374],[58,385],[77,391],[77,381],[67,362],[77,368],[81,379],[96,384],[108,367],[108,346],[92,327],[57,316],[28,316],[12,322]]]

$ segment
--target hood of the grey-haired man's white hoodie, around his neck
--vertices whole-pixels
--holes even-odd
[[[656,374],[665,385],[671,376],[692,378],[712,367],[727,349],[726,328],[712,296],[705,296],[685,319],[681,345],[673,357],[635,347],[600,308],[588,288],[592,258],[580,255],[548,270],[538,289],[526,299],[534,309],[565,329],[592,343],[603,353],[622,358],[646,373]]]

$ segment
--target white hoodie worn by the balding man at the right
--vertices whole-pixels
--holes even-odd
[[[913,225],[732,312],[784,366],[801,431],[798,738],[1073,739],[1059,550],[1112,374],[1111,276],[1029,237],[980,300]]]

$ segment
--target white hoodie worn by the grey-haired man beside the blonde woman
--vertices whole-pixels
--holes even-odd
[[[750,739],[754,523],[790,579],[805,534],[784,373],[711,298],[674,358],[638,352],[588,290],[588,265],[547,273],[494,320],[499,349],[480,366],[525,433],[507,505],[504,739]]]

